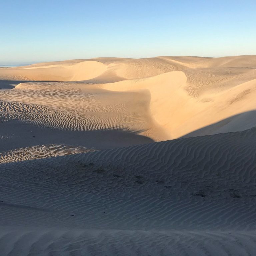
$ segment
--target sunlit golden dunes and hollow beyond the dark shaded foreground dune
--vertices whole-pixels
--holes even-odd
[[[249,129],[256,126],[255,79],[255,56],[2,68],[0,161]]]

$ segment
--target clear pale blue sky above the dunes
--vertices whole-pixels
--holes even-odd
[[[0,0],[0,63],[256,54],[256,0]]]

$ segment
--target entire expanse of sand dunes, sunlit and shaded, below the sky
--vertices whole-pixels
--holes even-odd
[[[256,56],[0,68],[0,255],[255,255]]]

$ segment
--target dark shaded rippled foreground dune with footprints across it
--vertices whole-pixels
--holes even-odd
[[[252,255],[255,135],[2,164],[2,255]]]

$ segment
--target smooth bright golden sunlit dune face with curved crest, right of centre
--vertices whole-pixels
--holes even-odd
[[[185,72],[185,71],[184,71]],[[186,72],[173,71],[147,79],[137,80],[136,82],[121,81],[112,84],[104,84],[103,88],[114,91],[129,91],[146,89],[151,95],[150,109],[156,122],[165,129],[166,139],[174,139],[190,134],[192,132],[211,126],[211,129],[204,129],[204,133],[197,132],[199,135],[217,134],[225,130],[242,131],[256,126],[255,112],[256,103],[253,100],[256,96],[256,69],[250,72],[248,77],[243,77],[243,83],[234,84],[234,79],[224,81],[222,87],[217,91],[214,84],[206,88],[206,92],[200,96],[191,97],[188,87],[191,85],[186,76]],[[196,77],[196,70],[194,70]],[[251,79],[251,80],[250,80]],[[204,82],[204,81],[203,81]],[[202,82],[202,83],[203,83]],[[226,85],[225,84],[229,85]],[[225,127],[218,123],[232,116],[243,112],[251,111],[248,119],[251,123],[233,122],[225,123]]]

